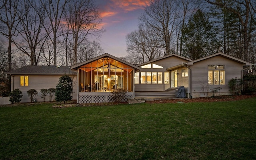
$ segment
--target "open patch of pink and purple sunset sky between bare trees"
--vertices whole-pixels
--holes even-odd
[[[100,38],[104,53],[127,56],[126,34],[138,29],[138,17],[150,0],[95,0],[105,30]]]

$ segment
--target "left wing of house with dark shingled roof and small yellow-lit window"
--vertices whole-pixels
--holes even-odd
[[[37,90],[38,95],[35,99],[37,102],[43,102],[40,90],[56,88],[59,78],[64,75],[73,77],[73,95],[77,94],[76,72],[72,71],[70,66],[25,66],[7,74],[11,76],[11,90],[18,88],[22,91],[21,102],[31,102],[27,94],[30,89]],[[73,96],[73,100],[76,100],[76,96]],[[49,96],[46,96],[46,101],[49,101]]]

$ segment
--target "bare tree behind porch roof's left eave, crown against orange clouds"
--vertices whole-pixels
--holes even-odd
[[[100,27],[100,14],[94,0],[74,0],[69,3],[64,12],[65,20],[70,25],[73,40],[73,62],[77,63],[78,46],[88,34],[100,36],[103,29]]]

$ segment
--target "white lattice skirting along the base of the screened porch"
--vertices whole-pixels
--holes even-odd
[[[133,92],[127,92],[124,97],[124,102],[128,102],[129,98],[133,98]],[[79,104],[83,103],[104,103],[104,102],[112,102],[111,94],[95,94],[95,93],[79,93]]]

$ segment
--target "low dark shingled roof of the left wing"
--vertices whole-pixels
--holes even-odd
[[[70,69],[70,66],[24,66],[12,70],[6,74],[26,74],[26,75],[64,75],[77,73]]]

